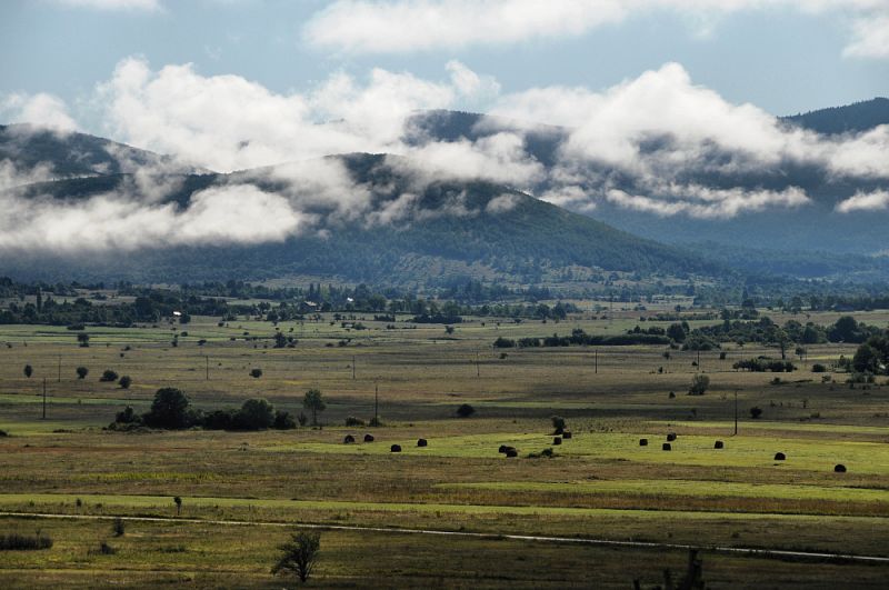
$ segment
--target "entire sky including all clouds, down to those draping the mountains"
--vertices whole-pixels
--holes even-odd
[[[52,167],[3,160],[0,250],[281,240],[330,211],[391,223],[429,214],[417,196],[443,177],[591,214],[608,202],[726,219],[809,206],[798,186],[731,184],[792,164],[870,187],[837,214],[889,210],[889,126],[821,137],[776,118],[889,96],[889,0],[6,0],[0,72],[0,122],[108,137],[177,167],[276,167],[262,174],[289,187],[239,177],[179,211],[163,204],[167,164],[134,169],[120,152],[124,191],[34,206],[3,188]],[[518,127],[406,141],[430,109]],[[527,150],[535,123],[567,130],[551,166]],[[342,167],[317,163],[358,151],[407,157],[416,186],[374,209]]]

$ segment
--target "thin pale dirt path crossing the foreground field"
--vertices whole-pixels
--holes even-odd
[[[589,539],[589,538],[572,538],[572,537],[547,537],[535,534],[497,534],[487,532],[463,532],[463,531],[440,531],[432,529],[402,529],[402,528],[384,528],[384,527],[357,527],[348,524],[294,524],[291,522],[269,522],[269,521],[244,521],[244,520],[209,520],[209,519],[189,519],[189,518],[164,518],[164,517],[116,517],[112,514],[52,514],[46,512],[6,512],[0,511],[0,517],[21,517],[21,518],[44,518],[44,519],[71,519],[71,520],[114,520],[120,518],[131,522],[188,522],[193,524],[220,524],[231,527],[278,527],[278,528],[301,528],[301,529],[321,529],[321,530],[339,530],[339,531],[358,531],[358,532],[391,532],[399,534],[438,534],[442,537],[463,537],[472,539],[506,539],[512,541],[533,541],[547,543],[579,543],[579,544],[595,544],[606,547],[635,547],[647,549],[700,549],[713,551],[718,553],[735,553],[743,556],[756,556],[761,558],[800,558],[800,559],[816,559],[816,560],[836,560],[836,561],[856,561],[866,563],[887,563],[889,564],[889,557],[881,556],[853,556],[847,553],[823,553],[816,551],[788,551],[775,549],[753,549],[745,547],[699,547],[681,543],[659,543],[653,541],[615,541],[608,539]]]

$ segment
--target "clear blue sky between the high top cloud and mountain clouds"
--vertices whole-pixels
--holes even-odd
[[[679,8],[640,9],[580,32],[379,50],[313,42],[307,26],[334,4],[321,0],[8,0],[0,6],[0,93],[49,92],[76,109],[121,59],[140,56],[154,69],[193,63],[201,74],[238,74],[276,92],[309,89],[332,72],[360,79],[374,67],[441,80],[444,64],[457,59],[505,92],[553,84],[601,90],[676,61],[695,83],[775,114],[889,94],[889,57],[843,53],[856,19],[889,12],[880,2],[815,12],[777,3],[727,12],[678,1]],[[341,23],[328,20],[336,37]]]

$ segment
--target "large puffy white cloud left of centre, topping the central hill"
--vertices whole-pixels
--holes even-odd
[[[239,76],[203,77],[191,64],[151,71],[121,61],[97,104],[108,132],[219,171],[329,153],[392,151],[417,109],[446,108],[448,84],[381,69],[367,83],[343,73],[307,93],[279,94]]]

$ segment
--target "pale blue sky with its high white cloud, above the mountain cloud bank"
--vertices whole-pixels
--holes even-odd
[[[887,0],[4,0],[0,91],[88,100],[116,64],[192,63],[274,92],[373,68],[506,92],[601,90],[667,62],[772,114],[889,94]],[[470,103],[467,108],[485,108]]]

